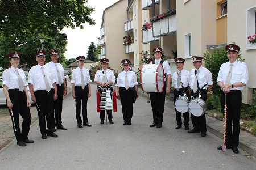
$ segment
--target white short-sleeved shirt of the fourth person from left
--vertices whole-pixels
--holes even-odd
[[[80,70],[82,70],[82,75],[84,75],[84,84],[86,86],[88,83],[92,82],[92,80],[90,80],[89,70],[85,69],[84,67],[82,69],[77,67],[76,69],[72,70],[71,83],[75,84],[75,86],[82,86]]]

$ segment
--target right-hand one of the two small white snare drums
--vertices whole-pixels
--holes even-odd
[[[200,99],[199,97],[196,97],[194,100],[194,97],[191,96],[191,101],[188,103],[188,109],[193,114],[193,116],[202,116],[205,114],[205,111],[207,110],[207,105],[205,104],[203,99]]]

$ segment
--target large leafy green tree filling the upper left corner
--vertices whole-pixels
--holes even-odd
[[[87,0],[0,0],[0,67],[8,65],[7,53],[22,53],[20,64],[36,64],[34,53],[41,49],[39,39],[45,39],[44,50],[60,50],[59,62],[64,63],[67,35],[60,33],[64,27],[84,27],[82,23],[95,24],[90,19],[94,8],[85,6]],[[15,12],[14,12],[15,11]],[[46,62],[50,61],[46,56]]]

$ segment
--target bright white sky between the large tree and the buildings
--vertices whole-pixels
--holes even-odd
[[[87,56],[90,42],[98,44],[97,37],[100,37],[100,28],[103,10],[119,0],[88,0],[85,5],[95,8],[90,18],[95,20],[96,25],[84,24],[84,29],[65,28],[62,32],[68,36],[67,52],[64,53],[67,59],[78,56]]]

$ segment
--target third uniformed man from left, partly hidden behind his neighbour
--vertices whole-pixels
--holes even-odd
[[[58,93],[58,98],[54,101],[55,121],[54,121],[53,131],[56,131],[55,126],[57,127],[57,129],[67,130],[67,128],[65,128],[62,125],[62,121],[61,121],[63,96],[67,95],[67,86],[64,78],[63,66],[57,62],[59,59],[59,53],[60,53],[59,50],[51,49],[49,51],[49,54],[52,61],[46,64],[46,66],[51,67],[53,73],[55,74],[54,79],[56,80],[57,93]]]

